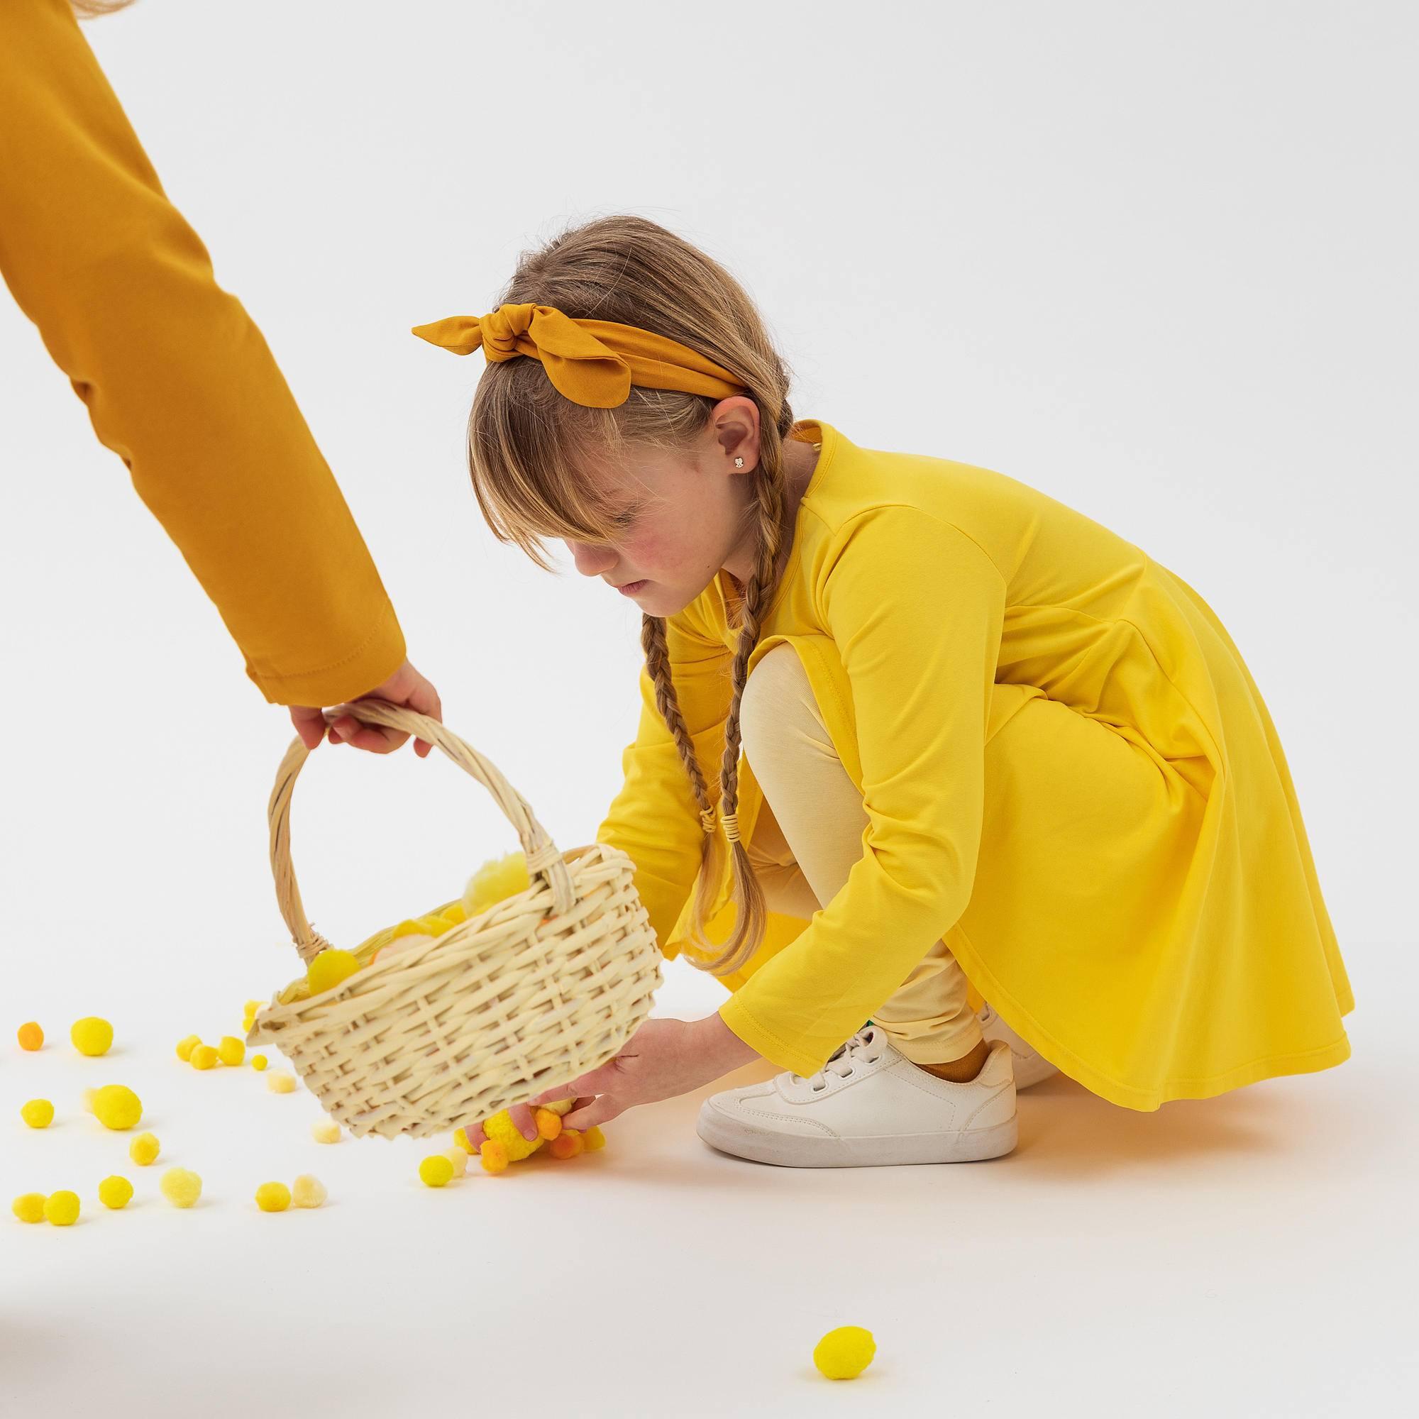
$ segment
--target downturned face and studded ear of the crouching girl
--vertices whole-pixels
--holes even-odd
[[[624,531],[609,543],[568,541],[576,569],[617,587],[648,616],[684,610],[721,568],[748,580],[756,514],[745,475],[758,447],[758,407],[734,396],[715,406],[691,447],[627,451],[599,474]]]

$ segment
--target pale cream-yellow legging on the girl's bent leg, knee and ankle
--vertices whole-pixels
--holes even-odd
[[[792,646],[776,646],[753,667],[739,728],[765,799],[745,850],[769,910],[809,918],[861,857],[867,810]],[[981,1043],[966,990],[965,973],[938,941],[873,1012],[873,1023],[915,1064],[958,1060]]]

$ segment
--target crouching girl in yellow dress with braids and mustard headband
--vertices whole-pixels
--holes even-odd
[[[1348,1057],[1281,745],[1179,576],[1002,474],[796,420],[741,287],[637,217],[416,333],[487,356],[494,534],[542,566],[565,539],[644,613],[597,837],[667,958],[731,992],[532,1104],[589,1127],[762,1056],[782,1073],[701,1108],[715,1148],[954,1162],[1015,1147],[1012,1039],[1137,1110]]]

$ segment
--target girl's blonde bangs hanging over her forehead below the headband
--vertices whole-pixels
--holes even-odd
[[[543,570],[548,539],[610,542],[616,509],[596,468],[620,441],[612,410],[563,399],[535,360],[487,369],[468,416],[468,471],[492,535]]]

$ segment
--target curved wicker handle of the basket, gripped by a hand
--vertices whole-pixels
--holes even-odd
[[[548,836],[546,829],[536,820],[522,795],[477,749],[444,728],[437,719],[406,710],[403,705],[390,704],[387,700],[360,700],[358,704],[336,705],[325,711],[325,722],[335,724],[343,715],[355,715],[365,724],[400,729],[443,749],[460,769],[473,775],[492,795],[498,807],[502,809],[504,817],[517,829],[528,860],[528,877],[532,881],[541,877],[552,888],[552,902],[559,914],[572,910],[575,900],[572,874],[568,871],[561,851]],[[305,763],[309,753],[311,751],[297,736],[291,748],[285,751],[285,758],[277,771],[275,788],[271,789],[271,802],[267,807],[271,824],[271,873],[275,877],[275,898],[281,915],[291,929],[291,941],[305,962],[312,961],[329,945],[329,941],[307,920],[305,907],[301,904],[301,888],[295,881],[295,868],[291,866],[291,793],[295,789],[295,778],[301,772],[301,765]]]

